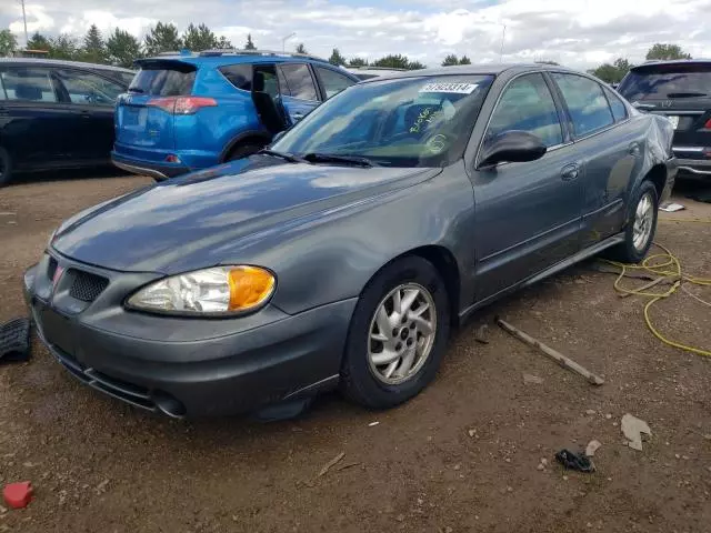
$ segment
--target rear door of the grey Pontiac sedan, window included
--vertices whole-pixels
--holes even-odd
[[[620,231],[624,197],[642,157],[643,139],[628,119],[624,103],[591,78],[553,72],[584,167],[582,247]]]

